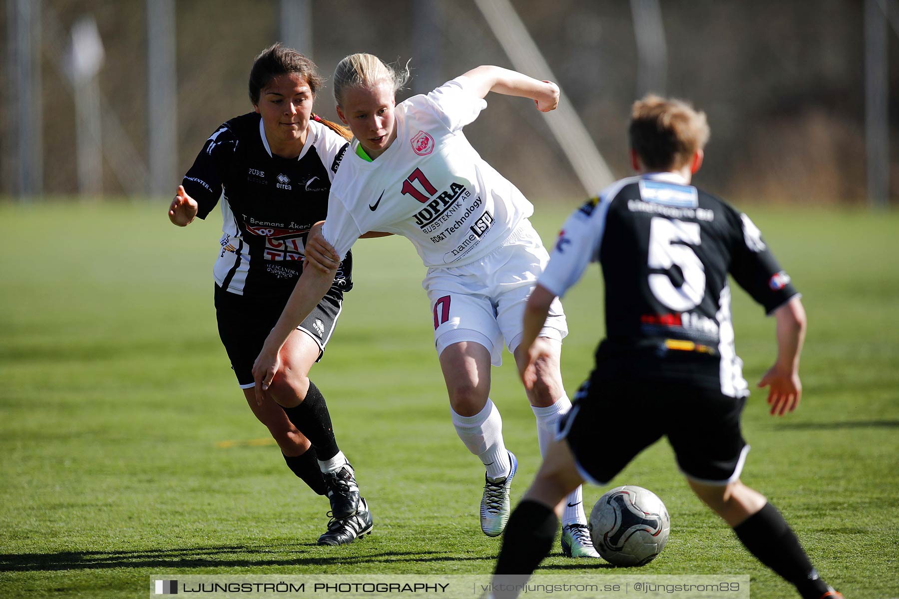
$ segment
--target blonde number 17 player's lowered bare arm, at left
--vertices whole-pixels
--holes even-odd
[[[297,286],[293,288],[278,322],[265,339],[262,351],[253,365],[253,378],[256,383],[256,403],[263,404],[263,396],[269,390],[271,379],[280,370],[280,348],[287,341],[290,333],[303,322],[316,307],[334,281],[337,269],[319,270],[303,269]]]

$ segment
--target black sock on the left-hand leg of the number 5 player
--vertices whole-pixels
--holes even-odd
[[[552,548],[558,524],[556,512],[537,501],[522,500],[506,524],[494,574],[530,575]]]

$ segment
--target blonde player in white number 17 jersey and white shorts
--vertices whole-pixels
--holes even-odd
[[[488,397],[490,365],[500,364],[503,342],[521,359],[524,305],[548,257],[528,221],[530,202],[485,163],[462,128],[484,110],[487,92],[530,98],[541,111],[556,108],[559,92],[551,82],[479,66],[396,105],[396,91],[408,76],[408,69],[387,66],[369,54],[345,57],[337,66],[338,115],[356,140],[334,178],[322,247],[329,243],[332,258],[343,257],[360,235],[382,231],[404,235],[418,250],[429,269],[423,286],[431,300],[453,425],[486,468],[481,528],[497,536],[509,518],[517,462],[503,445],[502,419]],[[326,255],[322,260],[333,273],[337,260]],[[255,382],[263,389],[280,371],[278,352],[289,331],[315,307],[329,277],[323,269],[307,269],[300,277],[254,366]],[[559,374],[566,333],[565,314],[556,303],[540,331],[553,352],[541,360],[539,382],[528,392],[541,450],[571,406]],[[567,503],[563,551],[598,557],[580,488]]]

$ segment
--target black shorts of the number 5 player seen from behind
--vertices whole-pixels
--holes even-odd
[[[689,383],[592,379],[578,389],[556,438],[567,440],[578,471],[596,484],[667,436],[685,476],[724,485],[739,478],[749,451],[740,432],[745,401]]]

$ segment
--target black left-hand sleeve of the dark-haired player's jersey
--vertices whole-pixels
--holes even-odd
[[[225,123],[206,140],[193,166],[184,175],[182,185],[188,195],[197,200],[200,207],[197,216],[200,218],[206,218],[218,204],[224,175],[228,172],[236,148],[237,137]]]

